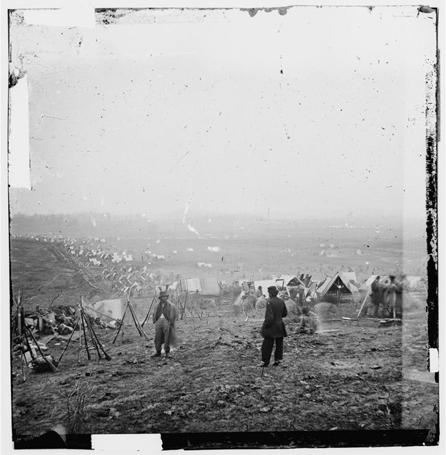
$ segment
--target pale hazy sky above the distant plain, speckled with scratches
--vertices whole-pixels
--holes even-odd
[[[12,21],[32,185],[12,212],[424,216],[434,13],[123,12]]]

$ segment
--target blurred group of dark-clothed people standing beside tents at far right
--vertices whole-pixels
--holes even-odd
[[[383,318],[401,318],[403,302],[408,298],[410,283],[406,275],[397,280],[395,275],[390,275],[382,281],[377,276],[371,285],[371,304],[373,318],[378,318],[379,313]]]

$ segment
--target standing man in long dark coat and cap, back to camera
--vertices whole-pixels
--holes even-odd
[[[288,312],[285,302],[277,295],[277,287],[268,287],[270,300],[266,305],[265,320],[261,328],[263,343],[261,344],[261,363],[259,366],[268,366],[274,342],[276,349],[274,351],[274,366],[280,365],[283,359],[283,337],[287,336],[285,323],[282,318],[286,318]]]

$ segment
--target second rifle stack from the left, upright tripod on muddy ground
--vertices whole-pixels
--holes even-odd
[[[95,360],[97,362],[99,362],[99,360],[101,360],[102,358],[111,360],[110,355],[106,353],[104,346],[102,346],[101,342],[99,342],[99,339],[97,338],[95,329],[93,327],[93,323],[91,322],[89,315],[87,315],[85,312],[84,300],[82,299],[82,297],[80,298],[79,304],[80,316],[75,324],[75,327],[78,327],[79,329],[78,363],[80,362],[80,354],[82,353],[82,351],[86,351],[86,356],[89,360],[91,360],[92,355],[95,356]],[[58,364],[60,363],[60,360],[62,359],[65,351],[67,351],[71,339],[73,338],[74,332],[75,332],[74,330],[71,332],[71,335],[67,342],[67,346],[65,346],[64,350],[62,351],[62,354],[60,354],[60,357],[57,362]],[[82,344],[84,346],[82,346]]]

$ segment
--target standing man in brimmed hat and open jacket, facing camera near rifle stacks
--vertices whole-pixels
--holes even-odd
[[[161,291],[159,293],[159,304],[153,315],[155,324],[155,349],[156,352],[151,357],[161,356],[161,347],[164,344],[166,357],[169,357],[170,347],[176,345],[175,321],[178,318],[178,310],[169,300],[169,293]]]

